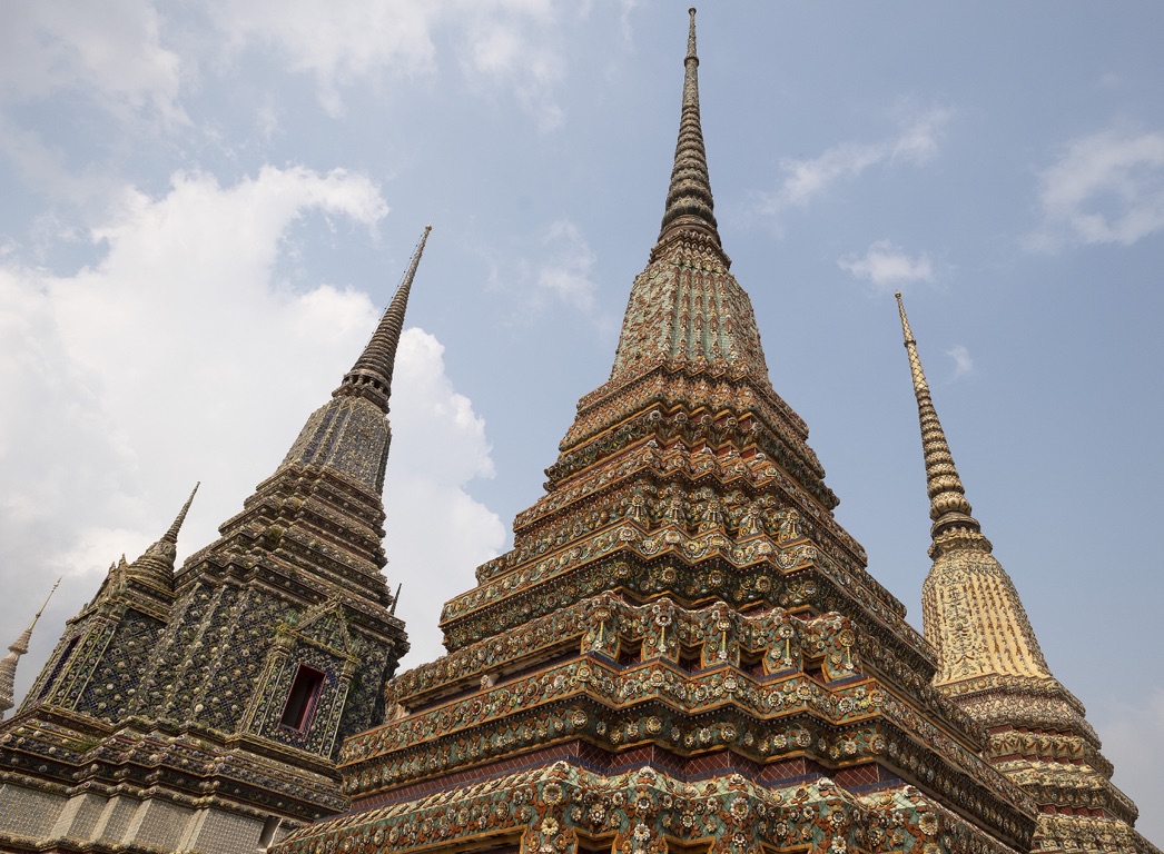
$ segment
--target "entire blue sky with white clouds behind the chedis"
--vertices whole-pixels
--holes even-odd
[[[0,626],[208,542],[326,399],[425,223],[393,394],[411,663],[611,365],[658,233],[687,3],[9,3]],[[700,13],[716,214],[870,569],[929,568],[902,290],[975,515],[1116,783],[1164,803],[1164,8]],[[5,641],[6,642],[6,641]],[[1164,820],[1138,827],[1164,839]]]

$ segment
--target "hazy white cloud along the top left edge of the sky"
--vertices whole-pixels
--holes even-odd
[[[207,6],[218,57],[203,47],[213,42],[197,24],[150,0],[13,3],[0,28],[0,100],[78,91],[122,118],[148,109],[184,122],[184,78],[194,79],[207,61],[228,65],[257,45],[275,51],[291,71],[311,74],[324,108],[338,116],[345,86],[385,73],[436,73],[436,43],[446,42],[470,86],[512,97],[542,130],[563,121],[554,88],[565,73],[563,21],[570,7],[551,0],[210,0]],[[182,45],[163,44],[166,24],[193,35]]]

